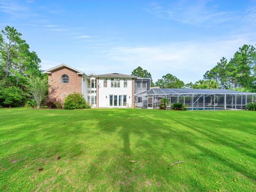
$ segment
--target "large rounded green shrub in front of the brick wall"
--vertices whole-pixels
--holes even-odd
[[[80,93],[69,94],[64,101],[64,109],[88,109],[91,108],[87,105],[86,100]]]

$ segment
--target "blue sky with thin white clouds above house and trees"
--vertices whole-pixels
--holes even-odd
[[[0,0],[0,28],[13,26],[47,69],[84,73],[141,66],[156,81],[170,73],[203,78],[221,57],[256,42],[256,1]]]

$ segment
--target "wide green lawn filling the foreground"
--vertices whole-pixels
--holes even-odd
[[[255,115],[0,109],[0,191],[255,191]]]

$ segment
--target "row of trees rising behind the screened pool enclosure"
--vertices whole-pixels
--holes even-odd
[[[256,50],[253,45],[239,47],[234,56],[228,61],[222,57],[217,65],[207,70],[203,79],[195,83],[185,84],[178,77],[166,74],[156,82],[152,81],[151,74],[138,67],[131,75],[150,78],[151,86],[161,88],[188,88],[188,89],[229,89],[247,92],[256,92]]]

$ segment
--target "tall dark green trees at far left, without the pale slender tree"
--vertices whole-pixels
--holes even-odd
[[[0,31],[0,97],[5,97],[0,105],[19,106],[29,98],[27,77],[42,78],[40,63],[37,54],[29,50],[22,34],[14,27],[6,26]]]

